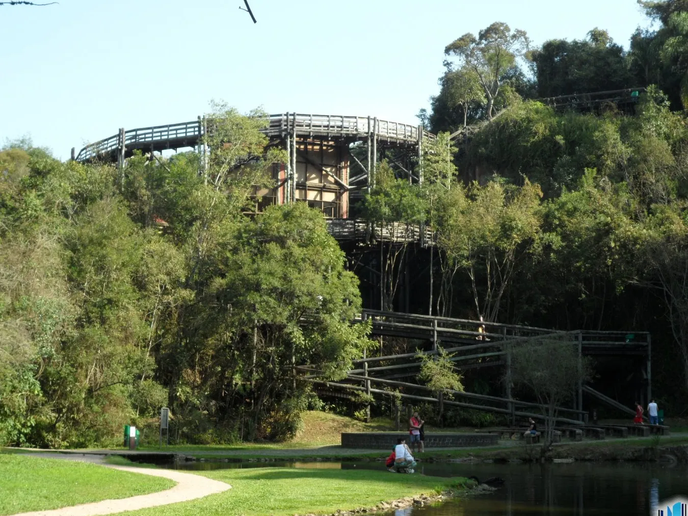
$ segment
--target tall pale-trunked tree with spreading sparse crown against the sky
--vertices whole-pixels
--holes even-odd
[[[477,38],[468,32],[456,39],[444,48],[444,54],[456,56],[463,66],[475,72],[487,98],[487,116],[492,118],[504,74],[529,43],[525,31],[512,31],[506,23],[495,22],[481,30]]]

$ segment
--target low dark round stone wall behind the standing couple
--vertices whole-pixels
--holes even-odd
[[[342,433],[343,448],[392,449],[398,438],[405,438],[406,432],[352,432]],[[491,433],[425,433],[425,448],[465,448],[497,444],[499,436]]]

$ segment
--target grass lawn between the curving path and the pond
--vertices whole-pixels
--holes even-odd
[[[232,485],[225,493],[193,502],[129,513],[127,516],[292,516],[333,513],[337,509],[370,507],[404,496],[430,494],[465,479],[400,475],[380,471],[254,468],[197,472]]]

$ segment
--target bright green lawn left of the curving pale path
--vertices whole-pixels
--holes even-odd
[[[175,482],[96,464],[0,453],[0,516],[144,495]]]

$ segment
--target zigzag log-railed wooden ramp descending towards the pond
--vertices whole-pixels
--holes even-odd
[[[570,343],[578,343],[581,355],[619,356],[635,355],[647,360],[647,378],[650,372],[650,336],[647,332],[562,332],[548,330],[541,327],[510,325],[501,323],[486,323],[469,319],[453,319],[449,317],[427,316],[420,314],[405,314],[398,312],[383,312],[380,310],[363,310],[361,321],[372,323],[372,334],[377,336],[394,336],[430,343],[425,355],[438,354],[440,347],[453,354],[451,361],[459,369],[475,369],[477,367],[506,367],[509,376],[510,347],[519,342],[537,341],[538,339],[556,338]],[[367,356],[354,361],[354,369],[347,372],[346,377],[338,382],[321,380],[320,371],[313,365],[300,365],[297,370],[300,378],[319,385],[321,394],[366,392],[378,396],[391,396],[387,388],[400,388],[400,396],[411,402],[433,402],[438,405],[448,405],[465,409],[477,409],[493,413],[509,415],[512,420],[517,417],[542,418],[540,405],[533,402],[515,400],[511,397],[510,387],[506,389],[506,396],[485,396],[463,391],[447,391],[456,400],[444,400],[443,396],[434,396],[431,389],[416,380],[421,361],[417,352],[394,354],[387,356]],[[400,381],[402,378],[408,380]],[[373,387],[376,385],[375,388]],[[651,396],[650,385],[648,397]],[[623,408],[611,398],[594,391],[594,389],[580,385],[577,396],[577,407],[560,407],[559,422],[581,424],[587,411],[583,410],[583,391],[594,395],[615,409]],[[411,394],[413,393],[413,394]]]

